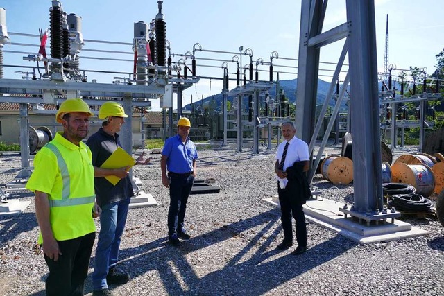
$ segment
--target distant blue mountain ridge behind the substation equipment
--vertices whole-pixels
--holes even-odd
[[[296,85],[298,80],[280,80],[280,89],[284,90],[285,96],[289,99],[291,103],[296,102]],[[318,80],[318,96],[316,98],[316,104],[322,105],[327,96],[328,88],[330,87],[330,82],[325,82],[324,80]],[[270,90],[270,96],[275,97],[275,88]],[[214,102],[211,102],[214,99]],[[203,100],[198,100],[194,103],[194,110],[200,105],[212,105],[213,109],[221,110],[221,102],[223,101],[222,94],[215,94],[213,96],[207,96]],[[228,101],[232,103],[233,97],[228,96]],[[334,101],[331,100],[330,105],[334,105]],[[185,110],[191,110],[191,104],[185,105]]]

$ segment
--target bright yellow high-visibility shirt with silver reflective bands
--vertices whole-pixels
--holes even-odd
[[[34,171],[26,184],[31,191],[49,195],[50,221],[57,241],[95,232],[94,166],[85,143],[74,145],[58,132],[34,158]],[[42,243],[42,234],[39,236]]]

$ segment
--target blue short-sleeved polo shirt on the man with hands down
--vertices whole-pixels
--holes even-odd
[[[193,141],[187,137],[185,144],[176,134],[165,141],[162,155],[167,157],[167,169],[169,172],[184,174],[193,171],[193,161],[197,159],[197,149]]]

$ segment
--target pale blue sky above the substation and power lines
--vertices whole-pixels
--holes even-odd
[[[67,13],[75,13],[83,19],[83,38],[85,40],[106,40],[114,42],[133,42],[133,26],[137,21],[149,23],[157,14],[156,0],[61,0]],[[165,0],[162,13],[167,26],[167,40],[171,53],[185,54],[199,43],[203,49],[214,51],[239,52],[239,46],[253,51],[253,64],[256,60],[268,62],[270,54],[277,51],[280,58],[298,58],[300,26],[300,1],[298,0]],[[0,7],[6,9],[8,32],[38,34],[39,28],[49,28],[49,8],[51,0],[0,0]],[[389,63],[398,69],[427,67],[433,73],[435,55],[444,47],[444,2],[441,0],[375,0],[375,19],[377,32],[377,59],[379,71],[384,70],[384,46],[386,37],[386,15],[389,16]],[[345,22],[345,0],[328,1],[324,31]],[[6,44],[4,51],[26,51],[37,53],[37,47],[17,46],[13,43],[40,44],[37,38],[10,35],[12,44]],[[48,42],[49,44],[49,42]],[[342,42],[321,49],[321,61],[337,62]],[[84,49],[107,49],[132,53],[130,46],[85,42]],[[47,50],[49,53],[49,49]],[[22,60],[24,54],[4,53],[3,64],[35,66],[34,62]],[[80,52],[80,57],[110,57],[132,60],[131,54],[104,54],[89,51]],[[196,58],[232,60],[232,54],[197,52]],[[178,58],[174,59],[178,60]],[[242,64],[249,57],[243,55]],[[207,64],[213,67],[199,67]],[[198,60],[197,74],[200,76],[222,77],[222,62]],[[229,72],[236,70],[236,64],[228,62]],[[275,65],[296,67],[291,60],[274,60]],[[132,62],[110,62],[80,58],[80,69],[105,71],[133,70]],[[259,66],[267,70],[268,66]],[[321,64],[321,69],[334,69],[329,64]],[[22,74],[14,71],[26,69],[4,69],[5,78],[20,79]],[[297,69],[275,66],[276,71],[296,73]],[[330,71],[321,74],[331,75]],[[117,74],[87,73],[88,80],[112,83]],[[344,75],[345,76],[345,75]],[[230,75],[230,78],[234,78]],[[297,78],[296,74],[280,74],[281,80]],[[268,80],[268,72],[259,72],[259,79]],[[321,76],[330,81],[330,77]],[[235,82],[230,82],[234,87]],[[194,87],[184,92],[184,104],[201,96],[217,94],[221,91],[219,80],[200,80]],[[157,102],[153,101],[153,107]]]

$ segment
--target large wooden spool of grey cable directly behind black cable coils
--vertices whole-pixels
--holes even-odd
[[[435,177],[432,168],[425,164],[395,162],[391,166],[392,182],[411,184],[416,193],[427,198],[434,191]]]

